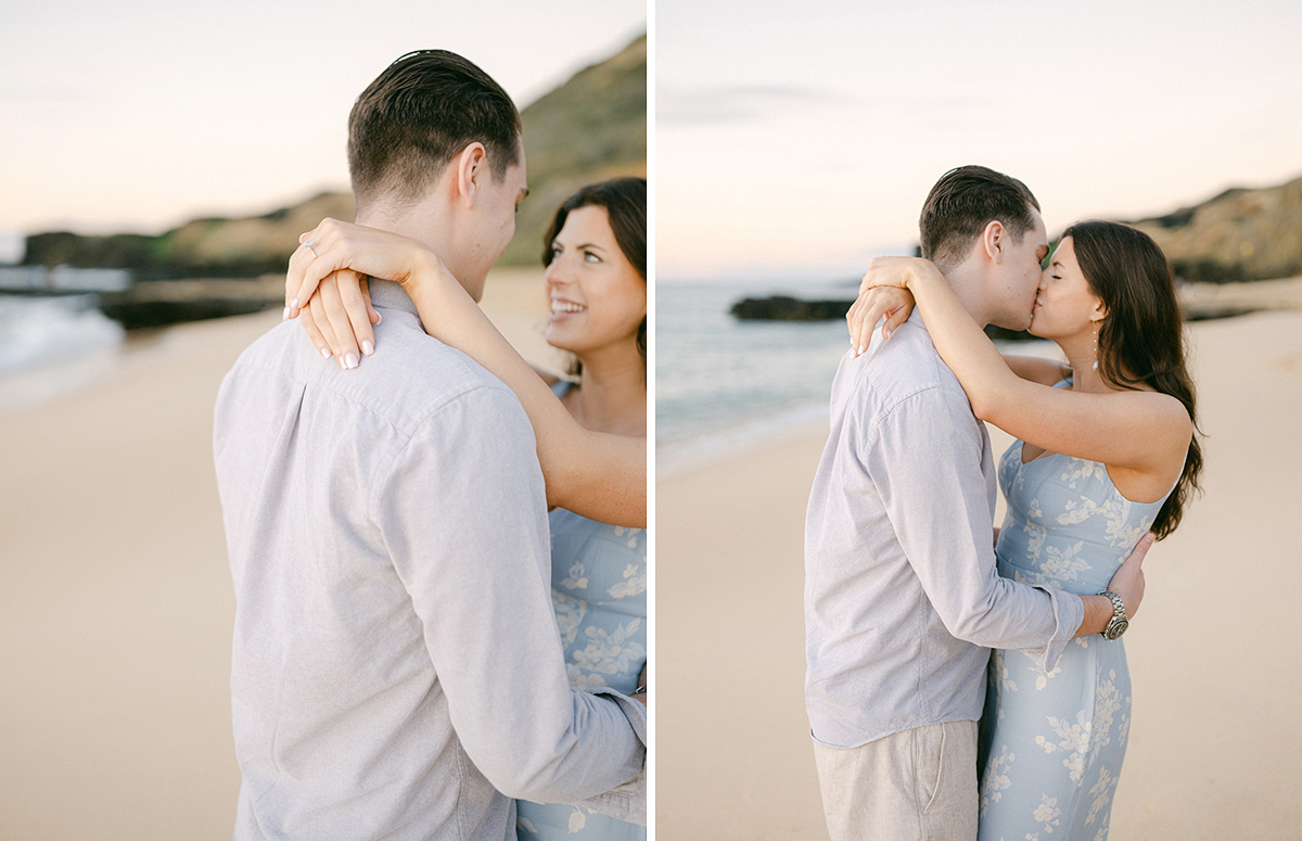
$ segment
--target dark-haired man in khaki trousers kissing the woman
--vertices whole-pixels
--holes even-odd
[[[982,325],[1025,329],[1048,254],[1026,186],[962,167],[932,187],[923,256]],[[833,838],[976,837],[976,721],[990,648],[1052,669],[1115,608],[1000,578],[986,427],[918,312],[848,353],[806,518],[806,707]],[[1142,542],[1112,579],[1133,614]]]

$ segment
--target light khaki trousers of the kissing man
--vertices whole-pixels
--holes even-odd
[[[859,747],[814,743],[832,841],[974,841],[976,723],[928,724]]]

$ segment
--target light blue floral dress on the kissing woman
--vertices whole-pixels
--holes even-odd
[[[1131,503],[1099,462],[1048,453],[1023,463],[1022,441],[1004,453],[999,484],[1008,500],[999,574],[1078,595],[1107,588],[1167,499]],[[979,841],[1107,838],[1129,733],[1121,639],[1077,637],[1052,672],[1021,651],[995,651],[980,723]]]

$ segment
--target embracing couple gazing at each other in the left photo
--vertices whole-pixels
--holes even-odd
[[[559,379],[477,306],[527,195],[493,79],[398,59],[349,171],[217,398],[234,837],[644,838],[646,181],[540,243]]]

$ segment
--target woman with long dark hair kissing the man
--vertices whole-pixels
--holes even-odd
[[[1019,439],[999,467],[1000,574],[1096,594],[1147,531],[1174,531],[1198,487],[1194,389],[1170,269],[1151,238],[1081,223],[1047,260],[1030,331],[1053,340],[1068,367],[1000,357],[939,269],[913,258],[874,262],[849,316],[852,344],[866,346],[883,314],[889,336],[917,301],[973,411]],[[907,292],[872,290],[883,285]],[[995,651],[979,838],[1105,838],[1129,729],[1121,639],[1078,637],[1052,672]]]

